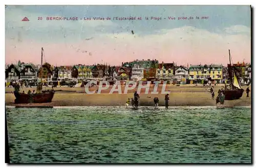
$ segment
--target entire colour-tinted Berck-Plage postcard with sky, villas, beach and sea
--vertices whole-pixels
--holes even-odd
[[[5,6],[6,162],[251,163],[251,6]]]

